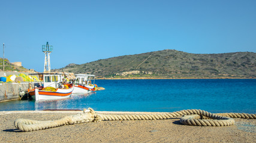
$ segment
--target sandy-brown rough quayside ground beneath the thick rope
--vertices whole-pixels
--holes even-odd
[[[186,126],[168,120],[102,121],[21,132],[16,119],[56,120],[82,111],[1,111],[0,142],[255,142],[256,120],[223,127]],[[97,112],[102,113],[102,112]]]

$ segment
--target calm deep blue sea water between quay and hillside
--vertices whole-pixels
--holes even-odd
[[[80,109],[256,113],[256,79],[96,80],[106,88],[66,100],[0,102],[0,111]]]

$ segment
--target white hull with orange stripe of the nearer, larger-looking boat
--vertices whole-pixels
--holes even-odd
[[[70,98],[74,90],[74,86],[70,89],[57,89],[56,92],[52,91],[39,91],[35,89],[32,92],[29,92],[29,95],[35,100],[60,100],[65,98]]]

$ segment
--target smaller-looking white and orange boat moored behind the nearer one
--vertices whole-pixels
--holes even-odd
[[[74,91],[72,94],[87,94],[95,91],[95,75],[92,74],[75,74]],[[93,82],[92,82],[93,81]]]

